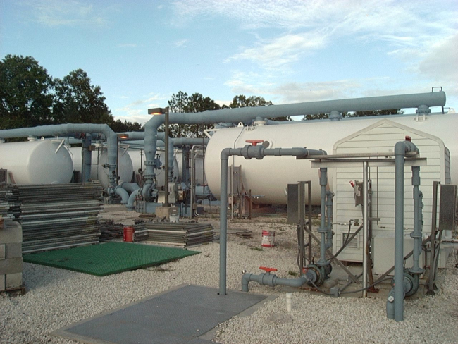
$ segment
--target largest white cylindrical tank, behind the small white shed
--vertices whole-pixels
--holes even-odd
[[[269,148],[307,147],[323,149],[333,154],[333,146],[357,131],[388,118],[390,121],[406,125],[415,130],[435,135],[450,149],[452,184],[458,183],[458,113],[429,115],[426,121],[416,121],[414,115],[371,116],[344,118],[342,121],[303,121],[295,124],[260,125],[254,127],[226,128],[216,131],[207,145],[204,167],[206,180],[211,192],[217,197],[220,193],[221,151],[225,148],[240,148],[246,140],[264,140]],[[403,137],[400,137],[402,140]],[[415,143],[415,142],[414,142]],[[309,160],[297,160],[291,156],[266,156],[262,160],[230,156],[228,165],[242,166],[242,183],[245,190],[252,190],[254,200],[262,204],[286,204],[287,184],[311,180],[312,202],[320,203],[318,169],[311,168]],[[333,185],[333,169],[330,168],[329,184]],[[307,199],[306,199],[307,202]]]

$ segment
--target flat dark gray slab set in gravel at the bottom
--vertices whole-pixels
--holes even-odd
[[[182,285],[51,334],[94,344],[211,343],[205,333],[266,298],[230,290],[221,296],[216,288]]]

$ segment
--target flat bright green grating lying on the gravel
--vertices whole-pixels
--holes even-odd
[[[171,262],[198,254],[176,247],[159,247],[132,242],[105,242],[66,250],[24,254],[24,262],[35,263],[96,276],[118,274]]]

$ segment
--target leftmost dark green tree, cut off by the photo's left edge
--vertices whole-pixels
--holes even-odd
[[[54,82],[31,56],[7,55],[0,61],[0,128],[55,122],[51,111]]]

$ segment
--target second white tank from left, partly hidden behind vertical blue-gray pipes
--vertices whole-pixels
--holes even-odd
[[[81,156],[81,147],[72,147],[70,152],[73,154],[73,169],[81,172],[82,156]],[[92,166],[91,166],[91,179],[99,180],[100,184],[107,188],[109,186],[108,178],[108,168],[105,168],[104,165],[108,164],[108,152],[106,147],[97,147],[91,154],[92,156]],[[132,166],[132,160],[130,155],[126,152],[125,149],[118,149],[118,164],[119,172],[118,175],[120,180],[130,183],[132,180],[132,173],[134,168]]]

